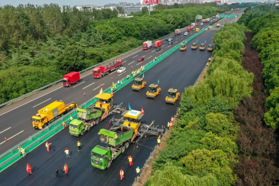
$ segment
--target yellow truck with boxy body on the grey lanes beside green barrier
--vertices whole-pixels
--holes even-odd
[[[34,129],[43,129],[48,126],[49,122],[66,114],[68,111],[77,107],[77,103],[69,103],[65,105],[63,101],[54,101],[44,108],[38,110],[38,114],[32,116],[32,124]]]

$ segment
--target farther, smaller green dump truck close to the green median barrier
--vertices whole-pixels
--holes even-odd
[[[99,123],[103,110],[101,108],[77,108],[78,118],[69,123],[69,133],[74,136],[83,135],[91,127]]]

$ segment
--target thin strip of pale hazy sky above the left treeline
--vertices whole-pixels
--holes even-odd
[[[142,1],[142,0],[141,0]],[[59,6],[68,5],[73,7],[74,5],[106,5],[108,3],[119,3],[119,2],[127,2],[127,3],[140,3],[140,0],[0,0],[0,5],[13,5],[18,6],[19,4],[34,4],[34,5],[43,5],[55,3]]]

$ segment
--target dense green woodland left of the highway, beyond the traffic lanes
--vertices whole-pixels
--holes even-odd
[[[56,4],[0,7],[0,103],[189,25],[215,7],[116,18],[117,10],[78,11]]]

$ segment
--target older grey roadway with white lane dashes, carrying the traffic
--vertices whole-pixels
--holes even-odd
[[[207,23],[209,24],[209,23]],[[207,24],[204,24],[206,26]],[[134,52],[129,56],[123,58],[123,65],[126,67],[127,71],[123,74],[119,74],[116,71],[110,73],[101,79],[93,79],[92,73],[89,73],[87,76],[83,77],[82,80],[72,87],[60,87],[59,89],[46,94],[34,101],[31,101],[21,107],[18,107],[9,113],[0,116],[0,153],[4,153],[8,151],[13,146],[17,145],[19,142],[28,138],[32,134],[38,132],[38,130],[34,130],[31,124],[31,117],[37,114],[37,111],[42,107],[50,104],[55,100],[63,100],[65,104],[69,102],[75,102],[78,104],[84,103],[89,98],[95,96],[100,88],[100,84],[102,84],[103,89],[108,88],[112,85],[112,83],[116,83],[117,80],[125,78],[128,73],[131,73],[132,70],[140,68],[141,65],[148,63],[155,56],[159,56],[165,51],[171,49],[179,42],[187,39],[189,36],[193,35],[195,32],[190,31],[187,36],[184,36],[184,31],[180,33],[180,35],[173,35],[173,44],[168,45],[167,41],[162,39],[162,50],[160,52],[156,52],[155,48],[151,48],[149,50],[141,50],[139,52]],[[145,56],[146,60],[139,64],[136,60],[137,58]],[[148,59],[149,58],[149,59]],[[111,79],[113,77],[113,80]],[[86,94],[86,96],[83,95]],[[9,125],[7,125],[9,124]],[[11,127],[11,128],[9,128]],[[8,129],[9,128],[9,129]],[[8,130],[6,130],[8,129]],[[5,130],[5,131],[4,131]],[[9,139],[8,142],[4,142],[5,137]],[[13,138],[11,138],[13,137]]]

